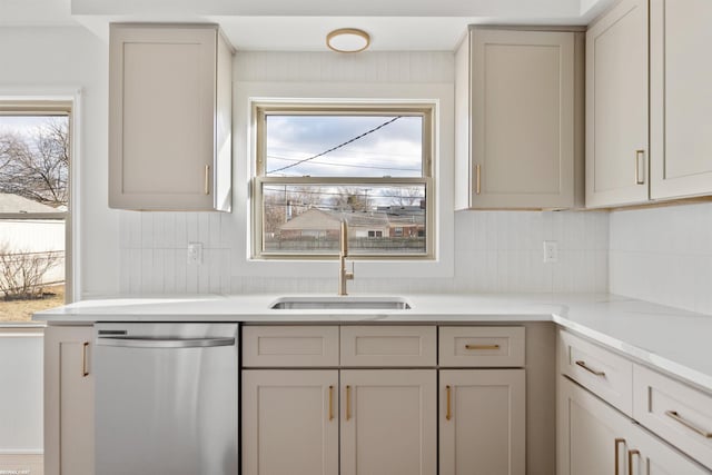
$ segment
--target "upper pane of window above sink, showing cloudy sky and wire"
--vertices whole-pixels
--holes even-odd
[[[422,177],[422,116],[267,115],[266,176]]]

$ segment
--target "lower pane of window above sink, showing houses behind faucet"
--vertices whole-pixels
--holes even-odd
[[[340,221],[352,255],[426,254],[425,185],[263,185],[264,253],[336,254]]]

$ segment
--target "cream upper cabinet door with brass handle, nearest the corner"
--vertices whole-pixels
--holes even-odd
[[[646,201],[647,0],[622,0],[586,33],[586,206]]]

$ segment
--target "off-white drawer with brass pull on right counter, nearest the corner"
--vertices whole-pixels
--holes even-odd
[[[570,333],[558,334],[558,367],[629,416],[633,413],[633,364]]]

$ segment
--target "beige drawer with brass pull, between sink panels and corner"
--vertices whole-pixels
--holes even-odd
[[[524,327],[441,327],[439,365],[524,366]]]

